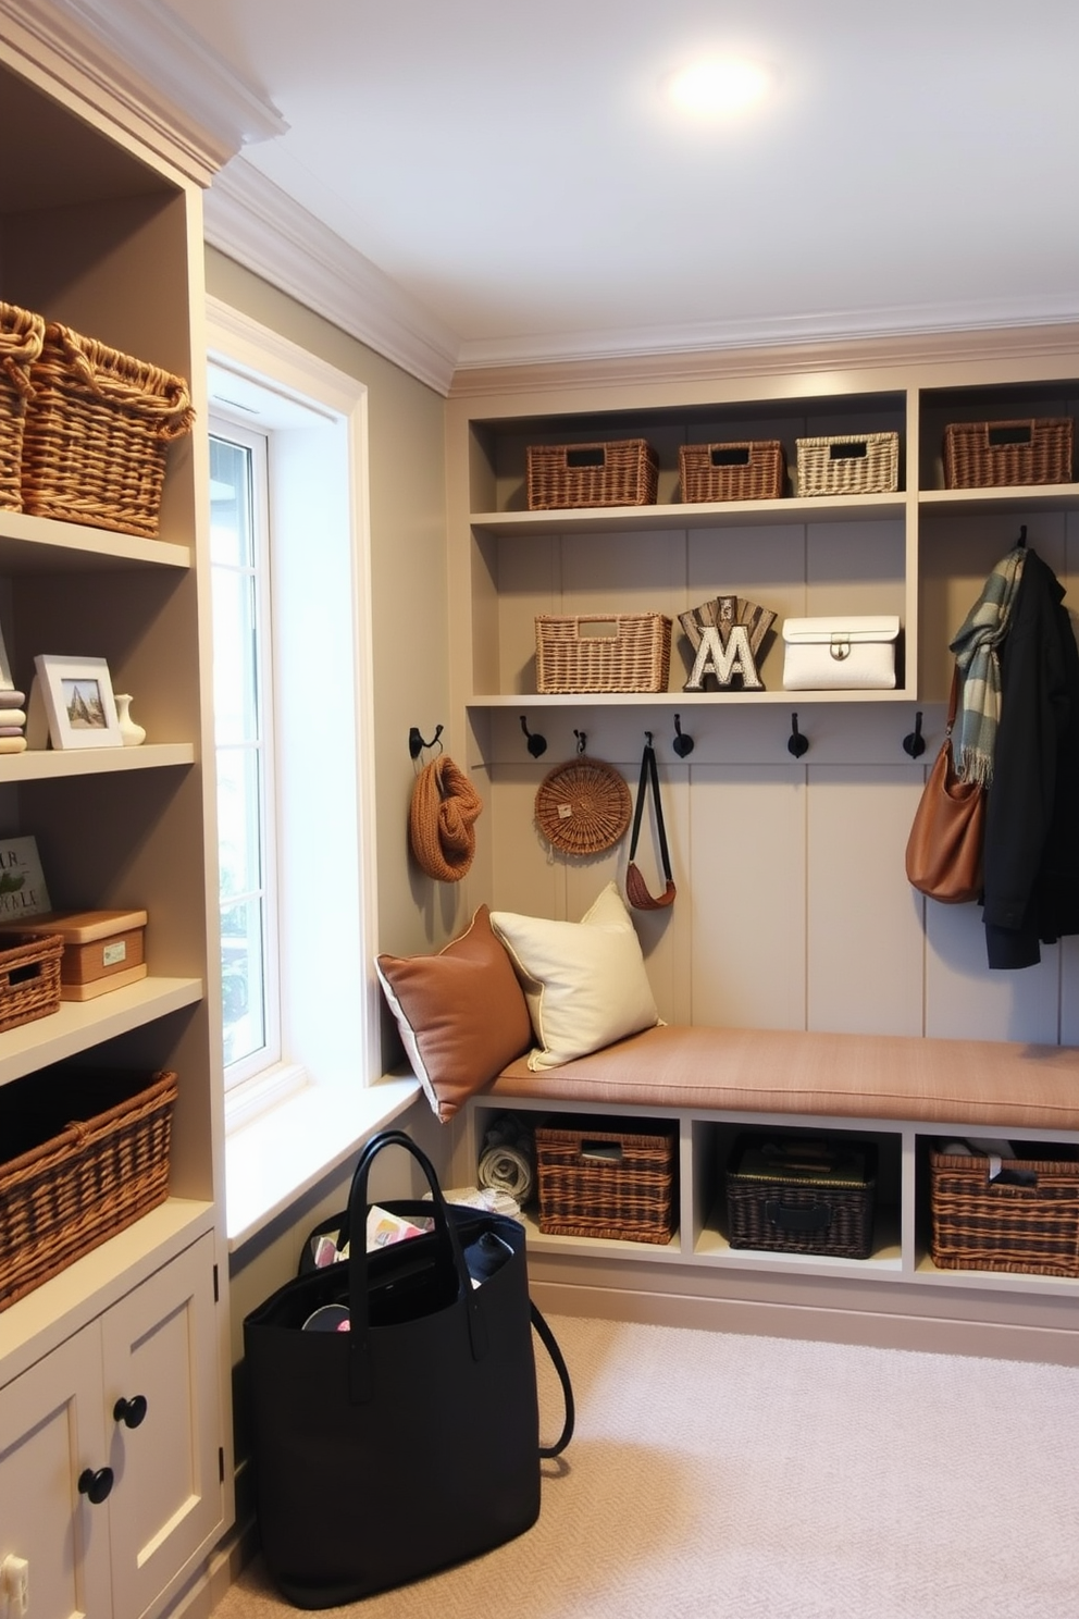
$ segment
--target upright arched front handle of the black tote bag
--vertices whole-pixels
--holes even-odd
[[[472,1360],[482,1360],[487,1353],[487,1331],[482,1316],[482,1287],[472,1287],[472,1279],[464,1263],[461,1239],[450,1219],[446,1200],[438,1185],[435,1167],[416,1141],[403,1130],[383,1130],[364,1145],[353,1172],[353,1185],[348,1193],[348,1213],[345,1226],[348,1229],[348,1308],[349,1308],[349,1399],[354,1405],[366,1404],[374,1397],[370,1376],[370,1308],[369,1308],[369,1260],[367,1260],[367,1177],[379,1153],[387,1146],[403,1146],[416,1159],[424,1172],[430,1195],[434,1198],[435,1230],[448,1243],[453,1256],[453,1268],[458,1276],[458,1287],[468,1307],[469,1342]]]

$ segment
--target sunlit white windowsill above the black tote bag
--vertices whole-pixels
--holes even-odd
[[[231,1130],[225,1140],[230,1253],[346,1162],[419,1094],[419,1080],[411,1073],[387,1075],[356,1090],[307,1085]]]

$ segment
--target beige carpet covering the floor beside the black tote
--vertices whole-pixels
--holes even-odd
[[[1079,1370],[552,1326],[578,1431],[560,1462],[544,1464],[539,1523],[476,1562],[336,1613],[1079,1616]],[[553,1433],[547,1376],[540,1389]],[[256,1561],[215,1619],[286,1613]]]

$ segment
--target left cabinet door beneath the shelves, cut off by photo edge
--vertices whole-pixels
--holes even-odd
[[[26,1559],[32,1619],[110,1613],[108,1501],[78,1491],[107,1443],[92,1323],[0,1389],[0,1562]]]

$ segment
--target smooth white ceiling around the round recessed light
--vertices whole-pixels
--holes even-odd
[[[459,363],[1079,319],[1076,0],[167,3]],[[772,97],[679,120],[717,50]]]

